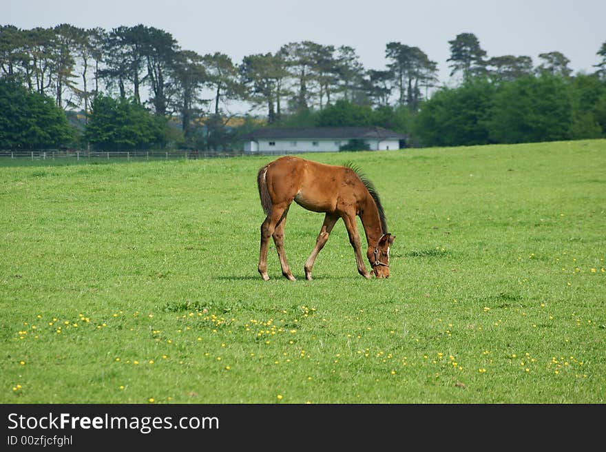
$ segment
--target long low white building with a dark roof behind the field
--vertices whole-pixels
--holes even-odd
[[[244,138],[246,154],[337,152],[349,141],[364,141],[372,151],[406,147],[406,135],[383,127],[264,127]]]

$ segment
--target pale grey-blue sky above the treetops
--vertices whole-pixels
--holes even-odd
[[[606,42],[606,0],[0,0],[0,24],[22,29],[70,23],[111,30],[143,25],[180,48],[249,54],[314,41],[354,48],[366,69],[386,67],[386,43],[417,46],[452,83],[448,41],[473,33],[488,57],[562,52],[574,72],[594,72]]]

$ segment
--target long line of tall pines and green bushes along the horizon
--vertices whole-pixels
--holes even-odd
[[[399,42],[386,43],[386,67],[375,70],[347,45],[286,43],[234,62],[145,25],[3,25],[0,147],[229,150],[251,128],[284,125],[380,125],[412,145],[605,136],[606,43],[595,72],[576,75],[561,52],[535,66],[489,58],[472,33],[448,43],[456,88],[439,86],[437,63]],[[234,125],[233,101],[263,113]]]

